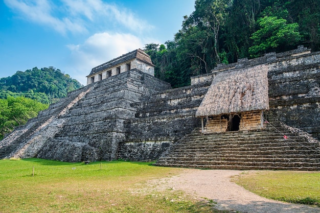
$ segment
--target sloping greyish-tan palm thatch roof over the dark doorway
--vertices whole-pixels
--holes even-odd
[[[205,94],[196,117],[268,110],[266,64],[218,73]]]

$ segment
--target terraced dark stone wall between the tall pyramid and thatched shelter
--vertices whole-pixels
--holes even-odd
[[[211,82],[168,89],[133,103],[138,109],[127,122],[130,133],[120,143],[118,158],[154,160],[185,134],[200,125],[195,112]]]

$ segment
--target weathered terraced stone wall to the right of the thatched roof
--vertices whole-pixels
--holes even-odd
[[[269,66],[269,119],[320,139],[320,53],[284,59]]]

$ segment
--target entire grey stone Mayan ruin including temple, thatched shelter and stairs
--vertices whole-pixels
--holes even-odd
[[[157,160],[207,169],[320,169],[320,52],[218,64],[172,89],[138,49],[0,141],[0,158]]]

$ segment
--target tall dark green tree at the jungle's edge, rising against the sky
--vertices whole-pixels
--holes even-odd
[[[193,57],[198,59],[199,62],[196,63],[198,67],[204,68],[200,73],[208,72],[208,68],[211,68],[208,67],[208,62],[212,60],[212,57],[215,62],[221,62],[219,35],[221,27],[225,25],[228,8],[231,5],[231,0],[196,0],[195,11],[189,17],[185,16],[182,29],[175,36],[177,41],[184,42],[182,39],[187,39],[185,43],[189,45],[185,48],[190,48],[189,54],[194,52],[194,46],[199,49],[199,51],[194,52]],[[193,42],[188,41],[189,36],[192,37],[190,39]],[[192,62],[194,61],[192,60]],[[201,63],[204,65],[201,65]]]

